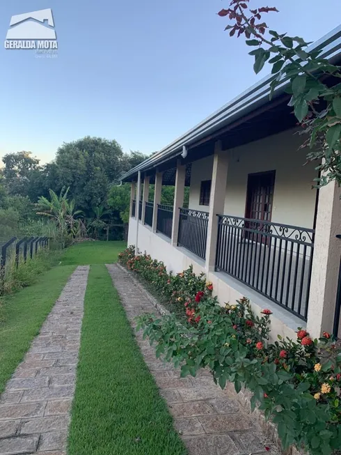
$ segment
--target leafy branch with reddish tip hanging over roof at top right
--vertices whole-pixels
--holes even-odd
[[[303,133],[308,134],[303,146],[310,148],[308,160],[318,162],[316,169],[322,174],[316,179],[318,186],[332,180],[340,185],[341,84],[335,83],[341,77],[340,67],[320,58],[322,49],[309,51],[310,43],[303,38],[270,30],[262,14],[278,12],[277,8],[251,9],[250,1],[232,0],[228,9],[219,11],[221,17],[228,17],[232,22],[225,30],[230,30],[230,36],[245,35],[246,44],[255,47],[249,54],[255,57],[256,73],[267,61],[272,65],[271,95],[283,80],[290,81],[289,106],[294,108]],[[327,84],[326,77],[333,77],[334,82]]]

